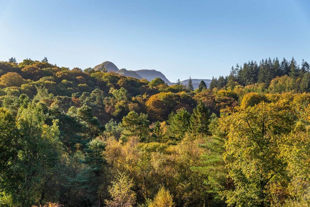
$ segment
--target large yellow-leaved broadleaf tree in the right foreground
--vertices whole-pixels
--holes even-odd
[[[282,196],[275,193],[287,182],[279,143],[292,129],[291,113],[280,103],[262,102],[220,119],[227,137],[224,161],[235,186],[224,193],[228,205],[269,206]]]

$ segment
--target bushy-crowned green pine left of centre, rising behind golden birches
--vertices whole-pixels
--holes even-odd
[[[148,125],[148,115],[144,113],[139,115],[134,111],[129,112],[122,119],[122,140],[126,141],[130,136],[138,136],[140,140],[146,140],[149,135]]]

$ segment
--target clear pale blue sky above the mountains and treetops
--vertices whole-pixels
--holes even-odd
[[[310,62],[309,11],[307,0],[0,0],[0,61],[211,79],[252,59]]]

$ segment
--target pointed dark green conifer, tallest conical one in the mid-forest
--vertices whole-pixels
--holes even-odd
[[[209,134],[209,119],[210,111],[200,101],[190,117],[190,132],[196,136]]]

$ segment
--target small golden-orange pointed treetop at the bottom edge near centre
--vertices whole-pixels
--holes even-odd
[[[164,187],[161,187],[159,189],[154,200],[149,205],[149,207],[158,207],[158,206],[161,206],[161,207],[175,206],[175,204],[173,203],[173,196]]]

